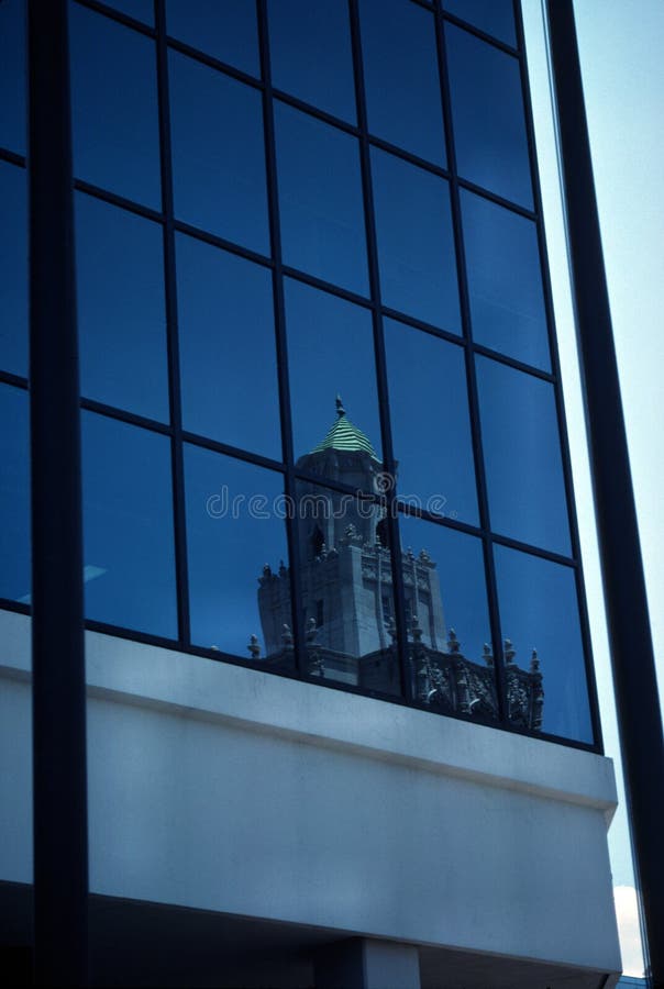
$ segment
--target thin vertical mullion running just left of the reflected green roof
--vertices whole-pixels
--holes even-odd
[[[286,464],[284,475],[288,504],[295,510],[286,518],[286,538],[290,557],[290,594],[292,634],[295,637],[296,669],[301,677],[309,671],[305,656],[305,630],[301,618],[302,588],[300,581],[300,541],[298,524],[297,481],[295,476],[295,454],[292,446],[292,420],[290,411],[290,386],[288,380],[288,349],[286,343],[286,304],[284,301],[284,265],[281,256],[281,227],[279,222],[279,193],[277,185],[277,153],[275,145],[274,98],[267,26],[266,0],[256,0],[258,19],[258,43],[261,48],[261,71],[263,75],[263,129],[265,135],[265,168],[267,176],[267,202],[269,210],[269,236],[274,260],[273,300],[275,309],[275,333],[277,345],[277,377],[281,425],[283,457]]]

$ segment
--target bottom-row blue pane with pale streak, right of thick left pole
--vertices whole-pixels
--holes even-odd
[[[177,638],[170,444],[82,412],[89,619]]]

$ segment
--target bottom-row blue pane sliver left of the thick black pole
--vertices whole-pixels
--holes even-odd
[[[0,385],[0,598],[30,603],[27,392]]]

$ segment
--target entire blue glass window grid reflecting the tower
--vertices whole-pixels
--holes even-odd
[[[19,610],[23,19],[0,4]],[[511,0],[71,3],[91,627],[598,743],[520,37]]]

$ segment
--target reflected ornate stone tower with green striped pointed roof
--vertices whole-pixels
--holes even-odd
[[[386,509],[370,496],[383,493],[385,475],[370,440],[336,399],[336,419],[325,437],[300,457],[297,467],[320,478],[300,482],[298,524],[301,619],[308,671],[312,676],[379,693],[398,693],[392,560]],[[335,482],[362,497],[325,487]],[[454,627],[445,620],[439,563],[427,548],[400,551],[408,632],[411,696],[440,713],[494,721],[498,698],[493,649],[464,655]],[[258,579],[258,609],[266,662],[292,666],[290,574],[266,564]],[[261,646],[252,635],[252,658]],[[544,691],[536,651],[530,667],[514,662],[505,642],[507,703],[512,724],[540,731]]]

